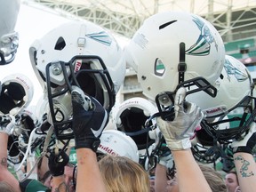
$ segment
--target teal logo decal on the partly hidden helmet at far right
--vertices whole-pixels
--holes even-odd
[[[238,82],[243,82],[249,77],[246,71],[242,71],[239,68],[234,67],[229,60],[225,60],[224,68],[227,72],[229,81],[230,81],[230,76],[232,75],[236,77],[236,80]]]

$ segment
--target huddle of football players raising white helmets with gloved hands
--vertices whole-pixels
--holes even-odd
[[[8,28],[0,16],[1,65],[19,52],[20,1],[10,2],[0,1],[15,12]],[[105,28],[70,21],[36,39],[29,58],[36,106],[28,76],[1,77],[0,191],[255,190],[254,84],[204,18],[156,13],[124,49]],[[119,103],[127,68],[143,97]]]

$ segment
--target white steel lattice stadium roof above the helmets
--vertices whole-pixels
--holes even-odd
[[[256,36],[255,0],[23,0],[63,15],[75,15],[131,37],[143,20],[156,12],[185,11],[201,15],[219,30],[224,41]],[[246,31],[246,33],[244,33]]]

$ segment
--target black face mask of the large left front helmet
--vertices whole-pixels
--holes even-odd
[[[101,61],[101,69],[93,69],[90,67],[90,62],[86,62],[86,60],[99,60]],[[80,68],[75,72],[77,69],[76,64],[77,60],[80,60]],[[85,61],[85,62],[84,62]],[[49,107],[50,113],[52,117],[52,124],[55,129],[55,135],[58,139],[72,139],[74,138],[72,132],[71,133],[64,133],[65,130],[70,130],[71,126],[71,115],[72,115],[72,108],[69,106],[68,102],[71,104],[70,94],[69,92],[72,91],[71,86],[76,85],[79,86],[84,93],[94,97],[98,100],[103,107],[110,110],[114,103],[116,94],[114,92],[114,85],[112,80],[109,76],[108,70],[102,60],[100,58],[95,57],[87,57],[87,56],[78,56],[74,57],[68,63],[59,62],[60,70],[63,72],[63,77],[65,82],[63,85],[56,86],[56,84],[52,85],[52,65],[56,65],[56,63],[49,63],[46,66],[46,87],[48,92],[48,100],[49,100]],[[68,76],[69,71],[69,76]],[[53,75],[54,78],[54,75]],[[100,83],[99,83],[100,82]],[[52,88],[55,87],[55,88]],[[103,87],[103,88],[102,88]],[[61,88],[61,89],[60,89]],[[63,113],[60,109],[59,112],[56,108],[57,100],[60,100],[61,95],[66,95],[68,99],[65,100],[65,107],[67,109],[67,113]],[[69,96],[68,96],[69,95]],[[55,100],[55,101],[54,101]],[[105,101],[105,103],[104,103]],[[58,101],[57,101],[58,102]],[[60,103],[61,105],[61,103]],[[67,108],[67,105],[70,108]],[[68,112],[69,109],[69,112]],[[65,116],[69,114],[69,116]],[[59,116],[59,117],[58,117]]]

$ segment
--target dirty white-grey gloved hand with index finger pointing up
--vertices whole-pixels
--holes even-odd
[[[203,112],[194,103],[184,101],[186,89],[181,87],[175,95],[173,121],[156,118],[156,124],[162,132],[168,148],[183,150],[191,148],[190,137],[204,117]]]

